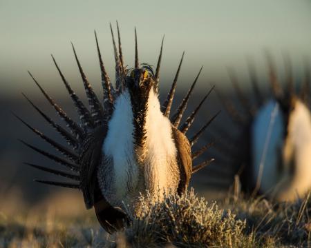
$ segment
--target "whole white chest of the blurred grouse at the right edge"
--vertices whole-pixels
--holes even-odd
[[[311,189],[311,116],[308,107],[295,101],[290,112],[288,127],[278,111],[272,121],[276,101],[267,103],[257,114],[252,127],[252,153],[255,180],[261,163],[261,191],[278,200],[294,200]],[[270,141],[267,141],[269,125],[272,125]],[[284,137],[285,128],[287,136]],[[265,161],[263,150],[267,145]],[[281,163],[281,165],[279,164]]]

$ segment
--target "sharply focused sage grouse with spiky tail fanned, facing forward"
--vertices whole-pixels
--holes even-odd
[[[145,194],[148,191],[151,196],[158,194],[159,191],[160,194],[164,192],[182,194],[185,192],[191,174],[211,162],[209,160],[198,165],[192,165],[194,159],[207,150],[207,146],[194,152],[191,152],[191,147],[198,141],[202,132],[216,116],[207,121],[194,136],[187,138],[187,130],[194,122],[202,103],[211,92],[210,90],[207,93],[207,96],[202,99],[200,105],[196,107],[185,123],[180,125],[182,114],[185,112],[189,97],[194,90],[202,68],[185,98],[182,99],[176,113],[170,117],[184,54],[182,54],[167,99],[160,105],[158,90],[163,40],[156,71],[153,72],[150,65],[139,63],[136,32],[133,69],[127,69],[124,64],[119,28],[117,27],[118,48],[115,44],[112,28],[111,34],[115,57],[115,86],[111,84],[106,73],[95,33],[102,74],[103,93],[101,99],[97,97],[88,79],[86,79],[73,47],[89,107],[86,107],[75,94],[52,56],[66,90],[73,100],[79,115],[79,122],[70,118],[29,73],[50,105],[55,108],[62,121],[66,123],[67,128],[61,127],[46,116],[35,103],[32,103],[28,98],[26,99],[62,135],[68,146],[56,143],[52,138],[19,118],[30,130],[52,145],[62,156],[55,156],[39,147],[22,142],[39,154],[64,165],[69,170],[60,171],[32,163],[28,163],[28,165],[72,180],[70,182],[62,180],[36,181],[81,190],[86,208],[95,208],[100,224],[109,232],[124,225],[124,221],[126,221],[124,205],[129,205],[134,215],[139,214],[138,198],[140,192]]]

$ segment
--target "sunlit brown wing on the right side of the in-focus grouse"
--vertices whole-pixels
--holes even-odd
[[[178,194],[182,194],[187,189],[192,174],[191,146],[185,134],[182,134],[182,132],[173,126],[172,130],[177,148],[177,160],[180,171]]]

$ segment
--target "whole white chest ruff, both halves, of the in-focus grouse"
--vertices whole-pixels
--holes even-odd
[[[133,110],[129,92],[115,101],[115,110],[109,121],[107,136],[102,146],[106,161],[111,165],[111,176],[102,193],[112,205],[131,203],[144,193],[177,189],[179,183],[176,147],[171,134],[171,123],[160,112],[158,96],[151,91],[148,101],[146,143],[143,160],[138,163],[135,152]],[[105,166],[105,165],[103,165]],[[104,168],[102,168],[104,169]]]

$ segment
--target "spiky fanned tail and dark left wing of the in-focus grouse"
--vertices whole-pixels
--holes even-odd
[[[82,65],[78,59],[77,52],[73,43],[71,43],[73,48],[73,53],[75,56],[75,61],[77,63],[77,67],[79,69],[79,74],[82,77],[82,82],[84,84],[84,90],[86,93],[86,97],[88,100],[88,106],[84,105],[82,100],[79,99],[75,91],[72,89],[68,81],[66,80],[62,70],[60,70],[59,65],[57,64],[53,55],[53,63],[57,69],[59,76],[62,79],[62,83],[64,83],[66,87],[66,91],[68,92],[70,99],[73,101],[75,105],[75,110],[77,115],[79,116],[79,122],[73,121],[72,118],[68,116],[68,114],[62,110],[59,105],[50,97],[50,95],[39,85],[37,80],[30,74],[32,80],[35,81],[35,84],[39,87],[39,90],[42,94],[44,94],[45,98],[48,100],[50,105],[52,105],[57,112],[57,114],[62,118],[62,120],[66,123],[66,128],[62,127],[61,125],[57,124],[53,118],[50,118],[47,114],[40,110],[40,108],[35,105],[30,99],[27,98],[26,95],[23,96],[26,100],[35,108],[35,110],[47,121],[47,123],[53,127],[53,129],[59,133],[62,138],[68,143],[68,146],[62,145],[57,143],[55,140],[40,132],[35,127],[32,127],[26,121],[23,121],[22,118],[17,116],[19,121],[21,121],[26,127],[28,127],[32,132],[37,134],[39,138],[46,141],[49,145],[52,145],[56,151],[58,151],[61,155],[54,155],[50,154],[39,147],[35,147],[34,145],[30,145],[25,141],[21,141],[24,145],[29,147],[30,149],[35,150],[35,152],[49,158],[51,161],[62,165],[65,167],[64,170],[57,169],[54,167],[46,167],[42,165],[37,165],[35,163],[26,163],[30,167],[34,167],[35,169],[39,169],[40,171],[46,172],[48,174],[53,174],[55,176],[62,177],[63,180],[35,180],[39,183],[44,183],[46,185],[54,185],[59,187],[68,187],[73,189],[79,189],[82,191],[84,196],[84,203],[86,204],[87,208],[93,207],[95,208],[95,212],[97,214],[97,218],[100,220],[100,223],[107,231],[115,231],[118,228],[123,227],[124,220],[127,221],[126,214],[121,211],[121,209],[117,209],[109,205],[109,203],[104,199],[104,195],[100,191],[98,186],[98,181],[96,177],[96,169],[98,164],[102,159],[102,143],[106,136],[106,132],[108,130],[108,121],[111,117],[113,112],[113,104],[115,99],[117,98],[117,94],[120,94],[124,91],[125,88],[125,80],[126,80],[126,65],[124,64],[123,52],[122,52],[122,43],[120,37],[120,28],[118,23],[117,25],[117,43],[115,42],[115,37],[113,34],[113,28],[110,23],[111,29],[111,37],[113,42],[113,52],[114,52],[114,59],[115,59],[115,87],[111,84],[111,80],[109,75],[106,72],[106,68],[104,67],[104,63],[102,60],[102,54],[100,52],[100,45],[98,43],[97,34],[95,34],[95,42],[97,48],[97,55],[100,63],[100,72],[101,72],[101,83],[102,83],[102,91],[103,91],[103,101],[102,99],[98,99],[91,83],[89,83],[88,79],[86,78],[86,74],[82,69]],[[141,64],[142,68],[147,68],[152,72],[153,79],[156,81],[156,89],[159,88],[159,81],[160,81],[160,67],[162,61],[162,51],[163,51],[163,43],[164,37],[162,38],[160,53],[158,55],[158,62],[156,66],[156,72],[153,74],[153,70],[151,70],[151,66],[147,64]],[[167,94],[167,99],[164,101],[161,110],[164,116],[169,118],[171,113],[171,105],[173,103],[173,99],[175,97],[176,92],[176,84],[178,81],[178,76],[180,74],[180,68],[182,65],[182,61],[184,58],[185,52],[182,53],[180,63],[178,65],[178,70],[176,75],[173,79],[173,83],[171,85],[171,89]],[[138,39],[137,39],[137,32],[135,28],[135,61],[134,61],[134,68],[140,68],[140,62],[138,59]],[[209,147],[214,145],[214,142],[207,143],[207,145],[203,145],[202,147],[196,149],[195,152],[191,153],[190,145],[194,145],[203,132],[207,129],[210,123],[216,118],[219,114],[215,114],[214,116],[207,121],[205,125],[203,125],[200,130],[192,137],[186,138],[185,134],[194,123],[196,116],[198,115],[198,111],[202,107],[203,103],[207,100],[208,96],[211,94],[214,86],[205,94],[205,96],[201,99],[200,103],[194,108],[189,116],[187,116],[185,123],[182,123],[180,127],[180,131],[177,128],[180,126],[180,121],[182,120],[182,116],[187,109],[187,105],[190,99],[192,92],[194,91],[194,87],[198,81],[198,77],[200,76],[200,72],[202,68],[200,68],[194,82],[189,87],[187,94],[182,99],[180,105],[178,106],[176,112],[171,116],[171,127],[173,130],[176,130],[176,135],[180,138],[180,143],[187,144],[186,149],[180,149],[180,159],[185,158],[185,163],[192,166],[192,161],[196,158],[204,154]],[[182,148],[182,146],[180,146]],[[185,148],[185,147],[183,147]],[[183,154],[187,154],[187,156],[182,156]],[[198,163],[190,167],[189,174],[198,172],[200,169],[204,168],[205,166],[209,165],[214,158],[210,158],[207,161],[203,161],[202,163]],[[189,163],[188,163],[189,162]],[[185,173],[188,173],[185,172]],[[72,180],[66,182],[64,180]],[[109,216],[111,214],[111,216]]]

